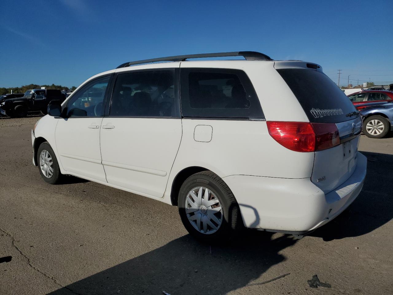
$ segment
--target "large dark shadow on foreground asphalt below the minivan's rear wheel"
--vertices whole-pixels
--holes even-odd
[[[196,242],[190,235],[79,280],[50,295],[70,294],[226,294],[259,278],[286,260],[279,251],[292,236],[246,232],[225,247]],[[283,274],[277,274],[283,275]],[[284,278],[283,278],[284,279]],[[257,281],[259,282],[259,281]]]

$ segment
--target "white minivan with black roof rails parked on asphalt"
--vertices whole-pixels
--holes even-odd
[[[187,60],[223,56],[245,60]],[[299,237],[338,216],[363,186],[361,129],[321,66],[226,52],[97,74],[31,136],[47,183],[74,175],[178,206],[212,242],[241,227]]]

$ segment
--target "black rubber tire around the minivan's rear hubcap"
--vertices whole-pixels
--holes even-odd
[[[210,229],[207,230],[207,232],[210,230],[212,233],[200,232],[191,224],[191,221],[187,217],[187,212],[185,209],[186,207],[185,201],[187,195],[193,188],[200,187],[200,186],[207,188],[208,191],[211,191],[215,195],[215,197],[217,197],[222,208],[222,211],[218,215],[218,217],[222,220],[218,229],[214,232],[214,229],[209,226]],[[209,198],[214,198],[214,197],[210,195]],[[218,207],[219,205],[213,205],[213,206]],[[212,207],[208,206],[208,208],[212,208]],[[230,238],[233,238],[235,234],[239,232],[239,230],[243,227],[243,222],[240,216],[239,205],[237,204],[235,196],[232,194],[230,188],[226,185],[226,183],[211,171],[202,171],[193,174],[184,181],[184,183],[180,187],[180,191],[178,195],[178,209],[179,209],[180,218],[182,219],[185,229],[187,229],[187,231],[191,235],[193,235],[195,238],[197,238],[202,242],[207,242],[207,243],[226,242]],[[200,214],[201,217],[203,217],[203,215],[208,216],[207,212],[206,213],[204,212],[204,214],[202,214],[200,210],[196,211],[196,213],[195,212],[190,213],[191,216],[193,216],[194,214],[195,215]],[[210,219],[210,221],[212,220],[213,219]],[[195,221],[195,224],[196,223],[197,221]],[[214,225],[218,225],[218,223],[214,223]],[[202,222],[200,222],[201,229],[202,226],[203,226]]]

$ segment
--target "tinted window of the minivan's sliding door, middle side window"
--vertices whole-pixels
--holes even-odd
[[[178,117],[177,89],[174,70],[119,74],[109,116]]]

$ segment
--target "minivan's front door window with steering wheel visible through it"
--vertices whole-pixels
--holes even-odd
[[[103,101],[110,77],[96,79],[80,89],[67,103],[69,117],[103,116]]]

